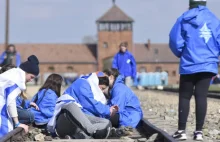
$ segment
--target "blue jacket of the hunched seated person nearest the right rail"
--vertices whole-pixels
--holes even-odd
[[[111,89],[109,106],[119,107],[119,125],[135,128],[143,117],[138,97],[124,84],[124,77],[119,75]]]

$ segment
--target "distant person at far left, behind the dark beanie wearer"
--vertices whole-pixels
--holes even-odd
[[[6,51],[3,52],[0,56],[0,65],[13,64],[17,67],[21,64],[20,54],[16,51],[16,48],[13,44],[9,44]]]

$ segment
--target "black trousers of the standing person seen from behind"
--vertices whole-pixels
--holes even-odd
[[[201,131],[206,111],[207,93],[211,78],[215,74],[201,72],[195,74],[181,75],[179,86],[179,130],[186,129],[189,114],[190,99],[194,93],[196,103],[196,130]]]

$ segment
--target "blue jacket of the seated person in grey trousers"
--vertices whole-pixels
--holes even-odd
[[[110,117],[110,107],[94,99],[86,78],[77,79],[66,89],[64,94],[69,94],[77,103],[81,104],[84,113],[97,117]]]

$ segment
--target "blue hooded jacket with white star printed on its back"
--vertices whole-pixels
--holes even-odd
[[[180,58],[180,74],[218,72],[220,22],[205,6],[180,16],[170,32],[169,45]]]

